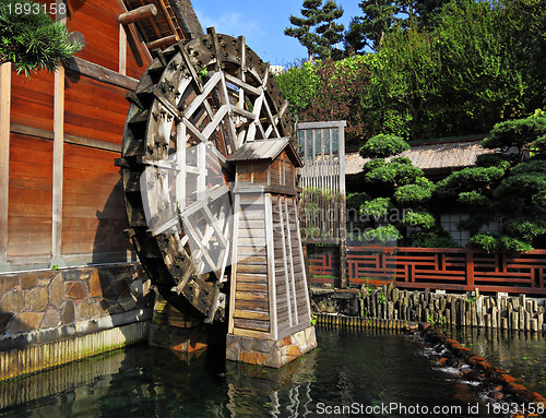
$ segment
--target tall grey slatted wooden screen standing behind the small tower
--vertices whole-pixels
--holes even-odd
[[[299,219],[304,243],[340,246],[346,277],[345,121],[297,123],[300,170]]]

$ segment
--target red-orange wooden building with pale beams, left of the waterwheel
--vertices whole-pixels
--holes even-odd
[[[135,260],[114,166],[126,95],[156,48],[202,34],[189,0],[55,1],[83,50],[31,79],[0,69],[0,271]]]

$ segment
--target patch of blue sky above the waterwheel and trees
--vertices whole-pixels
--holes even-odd
[[[307,58],[298,40],[284,34],[290,14],[300,16],[302,0],[192,0],[199,21],[206,29],[232,36],[245,35],[247,45],[264,61],[288,65]],[[324,2],[324,1],[323,1]],[[352,16],[360,15],[359,0],[337,0],[344,13],[340,23],[348,26]]]

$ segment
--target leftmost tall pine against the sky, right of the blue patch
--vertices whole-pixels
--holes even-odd
[[[295,27],[286,27],[284,34],[299,40],[307,48],[308,60],[332,58],[334,45],[343,39],[343,25],[334,21],[343,15],[343,9],[335,1],[305,0],[301,9],[304,17],[290,15]],[[337,58],[337,57],[335,57]]]

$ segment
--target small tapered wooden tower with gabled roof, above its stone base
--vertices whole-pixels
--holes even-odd
[[[248,142],[236,164],[229,333],[277,341],[309,327],[311,312],[288,139]]]

